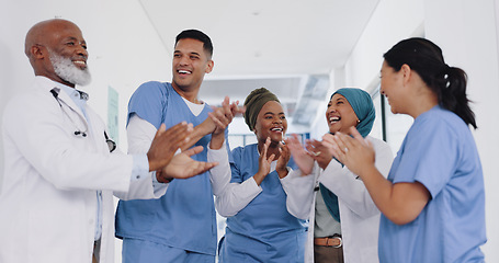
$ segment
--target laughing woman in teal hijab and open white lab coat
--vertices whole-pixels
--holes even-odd
[[[355,127],[374,145],[376,167],[386,176],[393,155],[387,144],[368,136],[375,115],[367,92],[343,88],[331,95],[326,121],[329,134]],[[330,144],[309,140],[306,149],[296,138],[287,139],[286,144],[300,175],[308,179],[304,184],[304,176],[293,173],[283,185],[288,198],[297,204],[288,207],[290,213],[309,219],[305,262],[377,262],[379,210],[362,180],[332,158]]]

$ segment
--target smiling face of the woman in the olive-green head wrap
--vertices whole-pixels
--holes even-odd
[[[270,137],[273,144],[279,144],[287,129],[287,119],[282,105],[276,101],[266,102],[257,116],[254,134],[259,142],[265,142]]]

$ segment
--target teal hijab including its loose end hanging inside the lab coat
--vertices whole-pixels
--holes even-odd
[[[374,110],[373,100],[371,95],[361,90],[355,88],[343,88],[337,90],[332,93],[331,98],[334,94],[340,94],[349,101],[350,105],[353,108],[356,117],[359,118],[360,123],[356,125],[356,129],[365,138],[371,133],[373,128],[374,118],[376,117],[376,111]],[[329,214],[334,218],[334,220],[340,221],[340,209],[338,207],[338,196],[326,188],[322,184],[319,184],[320,193],[322,194],[324,202],[328,207]]]

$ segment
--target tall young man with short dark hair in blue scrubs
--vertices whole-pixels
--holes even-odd
[[[192,158],[206,161],[208,142],[227,135],[225,129],[215,129],[213,122],[208,124],[212,108],[197,99],[204,75],[214,66],[212,54],[212,42],[204,33],[188,30],[177,36],[172,82],[146,82],[129,101],[131,152],[147,149],[161,124],[168,128],[186,121],[195,126],[193,144],[204,147]],[[172,180],[160,199],[121,201],[116,237],[123,239],[123,262],[215,262],[217,228],[213,195],[229,180],[211,178],[205,172]]]

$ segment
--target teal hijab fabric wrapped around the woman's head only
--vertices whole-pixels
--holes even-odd
[[[331,99],[337,93],[344,96],[347,101],[349,101],[353,112],[355,112],[355,115],[360,121],[356,125],[356,129],[362,137],[367,136],[373,128],[374,118],[376,117],[376,111],[374,110],[371,95],[361,89],[342,88],[332,93]]]

